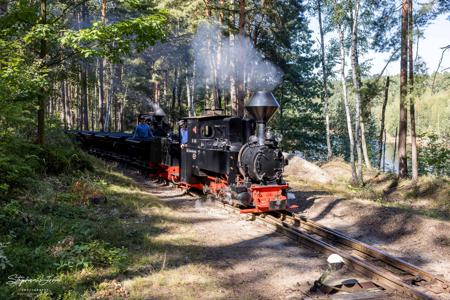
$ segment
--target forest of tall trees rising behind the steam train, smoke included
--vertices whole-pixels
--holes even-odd
[[[284,136],[285,151],[315,160],[343,156],[356,162],[358,181],[363,164],[380,165],[385,129],[392,140],[399,127],[400,175],[411,164],[414,177],[419,169],[442,174],[449,76],[425,66],[414,47],[448,9],[447,1],[3,1],[2,136],[44,144],[49,126],[132,130],[152,103],[172,125],[214,110],[244,115],[254,83],[273,77],[269,88],[281,110],[271,125]],[[448,45],[442,47],[445,55]],[[370,62],[360,62],[369,50],[389,53],[387,64],[401,61],[390,86],[383,73],[369,75]],[[250,70],[258,63],[273,70]],[[417,151],[425,144],[439,149],[439,160],[426,147]]]

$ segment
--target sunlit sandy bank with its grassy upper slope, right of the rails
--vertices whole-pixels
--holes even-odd
[[[365,171],[365,186],[348,184],[340,160],[321,166],[329,182],[287,176],[301,214],[403,258],[450,281],[450,184],[424,176],[418,182]]]

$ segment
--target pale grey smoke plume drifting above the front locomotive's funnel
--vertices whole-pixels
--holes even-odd
[[[281,82],[281,70],[241,35],[224,37],[219,26],[202,23],[192,42],[197,84],[227,89],[230,81],[250,91],[271,91]]]

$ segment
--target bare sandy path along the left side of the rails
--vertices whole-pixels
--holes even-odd
[[[226,299],[302,299],[326,268],[326,256],[198,196],[132,176],[190,222],[202,245],[201,263],[212,270]],[[345,268],[329,280],[355,278]],[[150,297],[151,298],[151,297]],[[199,295],[199,298],[205,298]],[[215,298],[215,297],[214,297]],[[393,298],[390,298],[393,299]]]

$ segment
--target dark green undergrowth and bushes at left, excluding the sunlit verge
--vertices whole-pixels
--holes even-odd
[[[65,136],[50,137],[43,147],[0,142],[0,299],[84,299],[166,251],[148,241],[165,222],[156,198]]]

